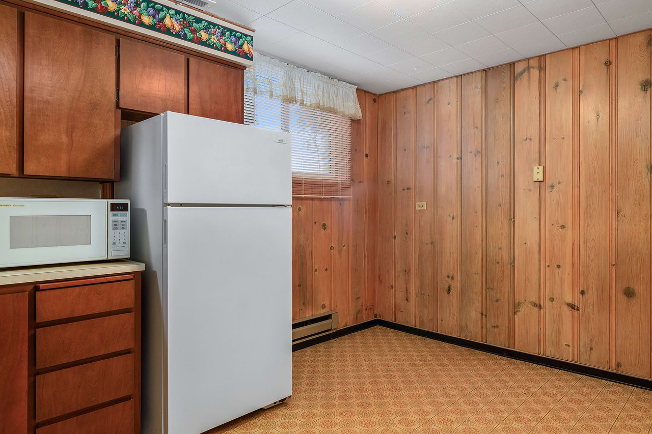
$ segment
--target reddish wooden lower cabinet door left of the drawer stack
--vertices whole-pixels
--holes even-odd
[[[28,297],[0,295],[0,434],[27,433]]]

